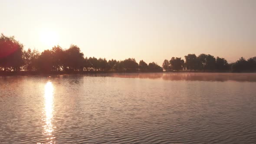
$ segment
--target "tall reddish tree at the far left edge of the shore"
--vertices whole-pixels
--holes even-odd
[[[0,70],[20,71],[23,61],[23,44],[14,36],[0,35]]]

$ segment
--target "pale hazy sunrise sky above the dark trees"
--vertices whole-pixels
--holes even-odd
[[[0,0],[0,33],[40,52],[158,62],[188,53],[256,56],[256,0]]]

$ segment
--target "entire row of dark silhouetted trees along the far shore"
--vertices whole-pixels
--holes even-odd
[[[85,57],[76,45],[69,49],[54,46],[52,49],[39,53],[36,49],[23,49],[23,44],[14,37],[0,36],[0,72],[163,72],[165,71],[256,71],[256,57],[248,60],[241,57],[234,63],[228,63],[224,58],[215,58],[211,55],[188,54],[185,61],[172,57],[165,59],[162,67],[155,62],[147,64],[143,60],[135,59],[117,61],[114,59]]]

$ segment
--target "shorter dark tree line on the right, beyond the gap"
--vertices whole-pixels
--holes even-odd
[[[256,71],[256,57],[244,59],[241,57],[233,63],[228,63],[226,59],[211,55],[188,54],[185,61],[181,58],[172,57],[171,60],[165,59],[162,67],[166,71],[233,71],[233,72],[254,72]]]

